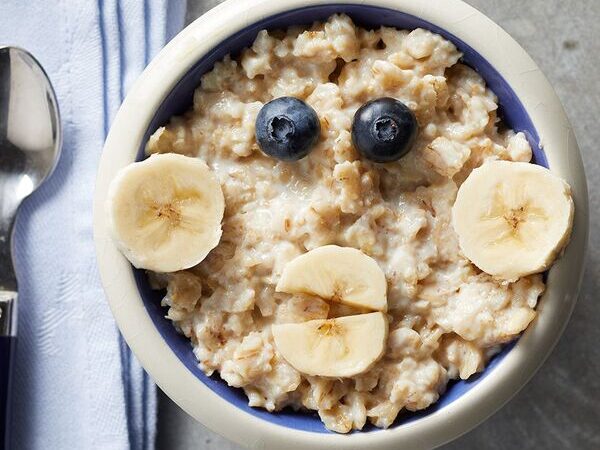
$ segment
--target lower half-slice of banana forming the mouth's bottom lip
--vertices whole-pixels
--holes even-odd
[[[381,312],[272,325],[275,346],[306,375],[352,377],[369,370],[385,350],[388,322]]]

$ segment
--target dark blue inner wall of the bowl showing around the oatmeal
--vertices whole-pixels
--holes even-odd
[[[169,118],[173,115],[182,114],[192,106],[194,89],[200,84],[201,76],[211,70],[215,62],[221,60],[226,54],[237,55],[241,49],[252,44],[258,31],[262,29],[286,28],[291,25],[309,25],[314,21],[324,20],[336,13],[349,15],[354,23],[365,28],[379,28],[380,26],[409,30],[425,28],[440,34],[454,43],[463,53],[462,62],[475,69],[486,81],[487,86],[498,97],[498,116],[502,119],[503,123],[515,131],[523,132],[533,149],[533,162],[548,167],[546,156],[540,147],[539,135],[525,107],[502,75],[472,47],[443,28],[416,16],[389,8],[353,4],[318,5],[286,11],[251,24],[225,39],[218,47],[207,52],[202,59],[192,66],[164,99],[148,125],[140,144],[137,160],[144,159],[145,143],[158,127],[168,123]],[[190,341],[185,336],[179,334],[173,324],[165,318],[166,308],[160,306],[164,292],[154,291],[150,288],[145,271],[134,268],[132,270],[134,271],[134,277],[146,311],[157,330],[185,367],[209,389],[248,414],[252,414],[273,424],[301,431],[329,433],[329,430],[323,426],[316,412],[293,411],[290,408],[285,408],[282,411],[270,413],[262,408],[252,408],[248,406],[248,399],[242,389],[228,386],[216,374],[211,377],[206,376],[198,367],[198,361],[192,352]],[[402,424],[418,420],[439,411],[454,400],[465,395],[481,383],[501,363],[502,359],[514,347],[515,342],[516,340],[506,344],[488,362],[483,372],[470,377],[468,380],[451,381],[445,393],[440,396],[436,403],[428,408],[417,412],[401,412],[392,427],[401,426]],[[362,432],[378,430],[378,428],[367,424]]]

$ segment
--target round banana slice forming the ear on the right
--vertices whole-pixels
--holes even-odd
[[[452,224],[473,264],[514,281],[552,264],[569,240],[573,215],[571,188],[548,169],[494,161],[462,184]]]

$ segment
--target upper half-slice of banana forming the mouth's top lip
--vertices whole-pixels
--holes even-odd
[[[276,291],[387,310],[383,271],[373,258],[351,247],[326,245],[296,257],[284,267]]]

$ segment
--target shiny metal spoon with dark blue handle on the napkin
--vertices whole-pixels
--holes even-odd
[[[21,202],[52,173],[62,144],[56,96],[36,59],[0,47],[0,448],[8,448],[10,366],[17,333],[12,232]]]

